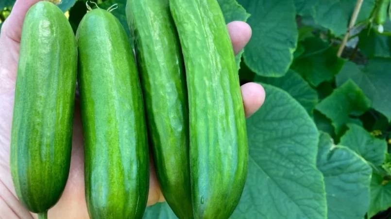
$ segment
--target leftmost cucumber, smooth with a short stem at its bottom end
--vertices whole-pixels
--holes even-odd
[[[43,213],[68,180],[76,90],[77,47],[62,11],[39,1],[22,29],[10,164],[17,197]]]

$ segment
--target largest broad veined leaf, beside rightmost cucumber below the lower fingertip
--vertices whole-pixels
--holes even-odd
[[[232,219],[325,219],[316,126],[288,93],[263,86],[265,103],[247,120],[249,170]]]

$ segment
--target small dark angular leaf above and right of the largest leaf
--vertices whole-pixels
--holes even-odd
[[[371,107],[371,101],[365,96],[355,82],[346,81],[342,86],[324,98],[316,109],[332,121],[337,135],[343,125],[351,122],[349,115],[360,115]]]

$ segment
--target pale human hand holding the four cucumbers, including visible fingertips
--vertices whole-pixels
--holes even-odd
[[[24,17],[28,9],[38,0],[17,0],[11,15],[2,26],[0,35],[0,215],[7,219],[37,218],[17,200],[9,165],[11,124],[14,108],[15,82],[19,43]],[[251,28],[244,22],[227,25],[233,49],[238,53],[249,41]],[[263,104],[264,89],[256,83],[241,87],[246,117],[252,115]],[[84,191],[84,148],[79,101],[75,101],[72,157],[67,186],[49,218],[88,219]],[[163,202],[153,165],[151,165],[148,205]]]

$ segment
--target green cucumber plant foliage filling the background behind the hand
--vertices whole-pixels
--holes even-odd
[[[134,46],[126,0],[94,2],[102,9],[118,4],[112,13]],[[391,19],[375,23],[379,0],[363,1],[341,57],[337,51],[357,0],[218,2],[226,23],[252,27],[250,42],[236,56],[240,83],[258,82],[266,90],[264,105],[247,120],[249,170],[231,218],[370,219],[387,210]],[[85,3],[59,4],[74,31]],[[2,0],[0,10],[13,4]],[[158,203],[144,218],[176,217],[167,203]]]

